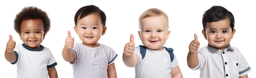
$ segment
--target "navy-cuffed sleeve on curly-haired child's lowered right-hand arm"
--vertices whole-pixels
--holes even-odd
[[[45,48],[45,47],[44,47],[44,48]],[[51,50],[47,48],[47,52],[48,52],[48,54],[49,54],[49,59],[48,59],[47,68],[52,68],[52,67],[54,67],[54,66],[57,65],[57,62],[56,62],[56,60],[54,59]]]

